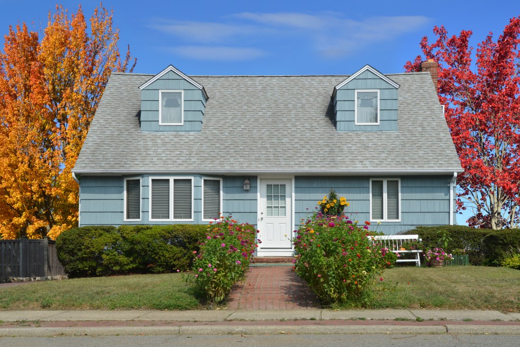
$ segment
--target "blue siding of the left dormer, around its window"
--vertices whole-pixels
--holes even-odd
[[[184,91],[184,124],[159,125],[159,91]],[[168,71],[141,91],[141,131],[201,131],[206,98],[204,93],[173,71]]]

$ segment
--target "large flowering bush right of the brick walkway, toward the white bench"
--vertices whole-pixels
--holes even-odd
[[[397,256],[345,216],[315,213],[298,229],[295,271],[328,304],[369,305],[372,286]]]

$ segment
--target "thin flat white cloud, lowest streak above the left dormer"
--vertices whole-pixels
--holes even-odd
[[[250,60],[267,54],[257,48],[224,46],[180,46],[170,50],[177,55],[199,60]]]

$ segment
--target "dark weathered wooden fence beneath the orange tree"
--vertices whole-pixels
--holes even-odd
[[[0,240],[0,279],[64,274],[56,253],[56,242],[48,237],[43,240]]]

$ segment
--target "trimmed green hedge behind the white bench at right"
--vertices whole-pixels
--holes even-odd
[[[511,253],[520,252],[520,229],[476,229],[465,225],[418,226],[403,233],[418,234],[424,248],[437,247],[437,232],[445,231],[451,241],[445,251],[464,249],[472,265],[500,266]]]

